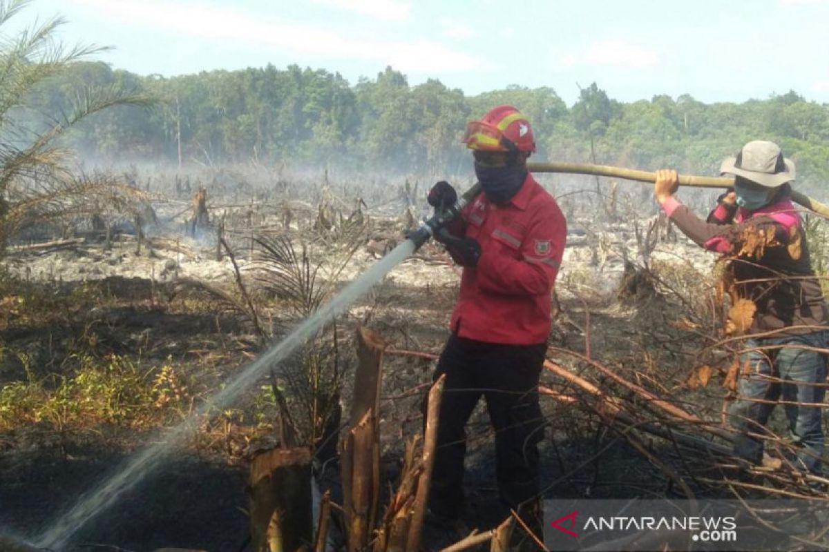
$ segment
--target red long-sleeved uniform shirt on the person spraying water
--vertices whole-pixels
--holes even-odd
[[[507,204],[480,194],[462,218],[465,235],[478,240],[482,253],[478,266],[463,269],[451,329],[488,343],[545,343],[567,235],[559,205],[527,174]]]

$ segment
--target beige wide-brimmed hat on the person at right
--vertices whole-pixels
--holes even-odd
[[[794,163],[783,157],[774,142],[754,140],[722,162],[720,175],[742,176],[766,188],[777,188],[794,180]]]

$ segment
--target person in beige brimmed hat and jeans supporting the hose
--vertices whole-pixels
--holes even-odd
[[[755,140],[725,159],[720,173],[734,175],[734,190],[720,196],[707,221],[674,198],[676,170],[657,171],[654,193],[683,233],[730,257],[726,273],[734,282],[734,298],[754,305],[739,354],[738,396],[729,408],[730,424],[739,430],[734,453],[764,463],[764,439],[775,438],[766,423],[782,397],[797,453],[789,459],[797,469],[820,474],[823,430],[817,405],[826,391],[820,349],[827,347],[827,307],[790,199],[794,163],[777,144]]]

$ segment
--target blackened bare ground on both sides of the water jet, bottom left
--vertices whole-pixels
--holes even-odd
[[[108,450],[99,444],[72,446],[66,454],[43,449],[3,454],[0,526],[11,535],[36,538],[34,528],[56,519],[61,508],[116,471],[128,454],[129,449]],[[245,475],[243,468],[229,466],[223,458],[176,454],[79,530],[69,550],[107,550],[103,545],[243,550]]]

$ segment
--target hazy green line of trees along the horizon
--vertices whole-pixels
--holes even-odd
[[[466,122],[512,103],[533,124],[539,161],[712,174],[724,156],[762,138],[783,146],[803,180],[829,180],[829,106],[793,91],[744,103],[702,103],[687,94],[623,103],[594,83],[568,107],[548,87],[512,85],[468,97],[436,79],[410,85],[390,67],[352,85],[338,73],[298,65],[165,78],[85,62],[44,87],[43,108],[60,109],[80,83],[159,100],[151,110],[110,109],[73,129],[70,145],[105,161],[454,173],[468,170],[460,142]]]

